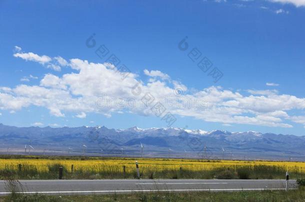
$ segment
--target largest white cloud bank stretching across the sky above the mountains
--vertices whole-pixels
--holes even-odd
[[[141,102],[143,96],[149,93],[155,102],[160,100],[166,112],[174,116],[226,125],[289,128],[292,125],[286,123],[287,120],[297,123],[296,119],[289,116],[289,110],[302,112],[305,109],[304,98],[279,94],[276,90],[247,90],[250,95],[243,95],[219,86],[210,86],[186,93],[185,85],[171,80],[161,71],[144,70],[146,75],[154,78],[144,83],[134,73],[122,77],[122,72],[106,63],[74,58],[69,60],[68,66],[77,72],[62,76],[46,74],[39,86],[0,87],[0,110],[16,111],[34,105],[48,109],[56,117],[64,117],[65,112],[76,113],[75,117],[78,118],[85,118],[88,113],[110,117],[112,113],[121,112],[155,116]],[[184,93],[177,95],[177,88]],[[164,98],[170,98],[170,102],[165,102]],[[103,99],[107,100],[106,105],[101,103]],[[130,99],[141,106],[134,107]],[[188,107],[189,101],[204,105],[199,108],[193,105]]]

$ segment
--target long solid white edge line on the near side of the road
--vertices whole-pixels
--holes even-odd
[[[265,190],[286,190],[286,189],[193,189],[193,190],[102,190],[102,191],[54,191],[54,192],[16,192],[17,194],[69,194],[69,193],[120,193],[120,192],[191,192],[191,191],[265,191]],[[289,189],[294,190],[294,189]],[[0,192],[0,195],[7,195],[10,192]]]

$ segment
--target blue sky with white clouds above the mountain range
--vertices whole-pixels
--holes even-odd
[[[303,0],[2,0],[0,123],[150,128],[169,126],[170,113],[170,127],[304,135],[303,19]],[[106,63],[111,54],[117,66]],[[204,57],[206,72],[197,67]],[[152,106],[174,104],[160,102],[159,116],[128,105],[147,93]],[[178,105],[186,99],[204,106]]]

